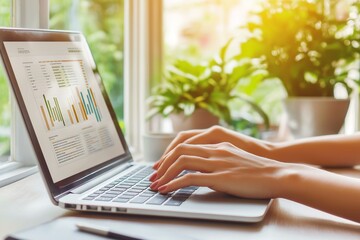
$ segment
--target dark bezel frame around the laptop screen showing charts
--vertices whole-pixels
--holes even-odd
[[[26,129],[29,133],[30,140],[32,142],[36,157],[38,160],[38,165],[40,167],[42,176],[44,178],[47,190],[52,198],[54,203],[58,203],[58,199],[71,191],[78,186],[92,180],[93,178],[99,176],[102,173],[116,167],[124,162],[132,161],[132,156],[129,151],[129,148],[126,144],[124,135],[117,123],[117,118],[115,111],[111,105],[110,99],[106,93],[105,87],[102,83],[101,78],[98,79],[98,84],[101,89],[102,95],[104,97],[106,106],[111,115],[112,121],[115,125],[115,129],[121,141],[121,144],[124,147],[124,153],[115,158],[109,159],[97,166],[84,170],[80,173],[77,173],[73,176],[70,176],[66,179],[63,179],[59,182],[54,183],[49,171],[49,168],[46,164],[44,154],[41,150],[40,143],[36,137],[34,127],[31,123],[29,113],[26,109],[23,96],[21,94],[19,85],[17,83],[13,68],[10,63],[9,56],[5,49],[4,42],[10,41],[20,41],[20,42],[81,42],[81,44],[89,51],[89,55],[93,60],[93,56],[90,52],[90,48],[85,40],[85,37],[80,32],[74,31],[57,31],[57,30],[39,30],[39,29],[19,29],[19,28],[0,28],[0,54],[3,61],[3,66],[7,74],[8,81],[10,83],[11,89],[17,101],[18,107],[20,109],[21,115],[23,117]],[[93,61],[94,62],[94,61]],[[100,76],[97,71],[96,65],[92,68],[95,75]]]

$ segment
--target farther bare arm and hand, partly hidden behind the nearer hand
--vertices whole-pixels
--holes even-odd
[[[270,143],[222,127],[212,127],[180,133],[164,155],[180,143],[216,144],[221,142],[229,142],[247,152],[282,162],[326,167],[350,167],[360,164],[360,133]],[[155,168],[160,164],[161,161],[155,165]]]

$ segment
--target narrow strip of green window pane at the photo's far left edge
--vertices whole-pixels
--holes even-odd
[[[11,1],[0,1],[0,26],[10,26]],[[4,69],[0,68],[0,156],[10,154],[10,103],[9,89],[4,75]]]

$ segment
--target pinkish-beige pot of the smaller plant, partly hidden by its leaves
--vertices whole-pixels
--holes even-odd
[[[183,113],[171,114],[170,119],[174,132],[204,129],[219,124],[218,117],[201,108],[196,109],[191,116],[185,116]]]

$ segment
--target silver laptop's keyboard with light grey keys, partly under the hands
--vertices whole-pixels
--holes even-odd
[[[116,179],[84,198],[88,201],[135,203],[150,205],[180,206],[198,189],[190,186],[168,194],[160,194],[150,189],[150,166],[139,166],[130,173]],[[179,176],[186,174],[184,171]]]

